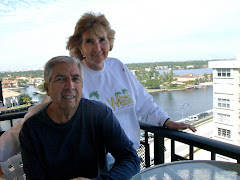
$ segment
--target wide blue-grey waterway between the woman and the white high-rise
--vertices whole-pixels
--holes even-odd
[[[164,91],[153,95],[153,101],[174,120],[204,112],[213,108],[213,87]],[[186,104],[185,104],[186,103]],[[188,105],[189,104],[189,105]]]

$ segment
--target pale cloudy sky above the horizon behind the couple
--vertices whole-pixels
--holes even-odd
[[[85,12],[116,31],[109,57],[123,63],[235,59],[239,0],[1,0],[0,72],[42,69],[69,55],[66,42]]]

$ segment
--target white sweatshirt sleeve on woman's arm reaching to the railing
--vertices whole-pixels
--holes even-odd
[[[125,68],[136,99],[137,117],[141,121],[150,123],[151,125],[163,126],[164,122],[169,118],[168,114],[153,102],[153,97],[146,91],[132,72],[127,67]]]

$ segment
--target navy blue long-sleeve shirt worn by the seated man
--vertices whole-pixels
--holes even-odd
[[[74,116],[55,123],[46,108],[23,125],[20,145],[28,179],[130,179],[139,158],[118,120],[104,104],[81,99]],[[104,172],[106,153],[115,165]]]

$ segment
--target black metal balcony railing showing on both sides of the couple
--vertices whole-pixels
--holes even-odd
[[[23,118],[25,114],[26,112],[0,115],[0,121],[10,120],[12,126],[14,119]],[[155,165],[162,164],[165,161],[165,138],[171,139],[171,161],[187,160],[186,157],[180,156],[177,152],[175,152],[175,142],[181,142],[189,146],[189,160],[194,159],[194,148],[197,147],[211,152],[211,157],[209,158],[211,160],[215,160],[216,154],[219,154],[235,159],[238,163],[240,163],[239,146],[182,131],[151,126],[144,122],[139,123],[141,129],[145,131],[145,140],[141,141],[140,149],[138,149],[138,154],[142,160],[142,168],[149,167],[151,165],[148,132],[154,134]]]

